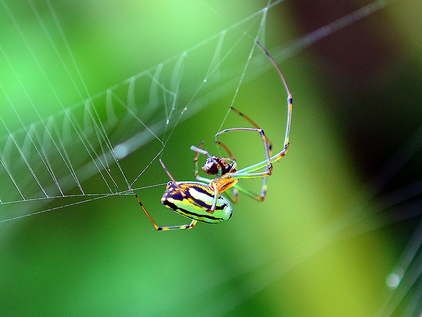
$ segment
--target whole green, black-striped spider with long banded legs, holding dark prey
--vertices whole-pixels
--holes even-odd
[[[272,156],[272,144],[265,136],[264,130],[262,130],[245,114],[231,107],[231,110],[249,121],[253,128],[229,128],[218,132],[215,137],[218,137],[219,135],[229,131],[237,130],[258,132],[261,135],[261,139],[264,143],[266,159],[259,163],[237,170],[236,158],[233,156],[232,152],[226,145],[219,141],[215,141],[217,144],[221,145],[229,155],[229,158],[218,158],[216,156],[211,156],[210,153],[201,149],[204,143],[203,141],[198,148],[195,146],[191,147],[191,150],[197,153],[194,158],[195,177],[196,179],[200,180],[200,182],[176,181],[164,165],[163,161],[160,159],[162,167],[171,179],[171,181],[167,183],[164,195],[161,197],[161,203],[174,212],[192,219],[192,222],[189,225],[159,227],[152,220],[151,216],[149,216],[145,207],[143,207],[138,195],[135,194],[139,204],[141,205],[141,208],[145,212],[146,216],[148,216],[156,230],[190,229],[193,228],[198,221],[215,224],[230,219],[233,210],[232,206],[227,198],[221,196],[221,193],[225,192],[229,188],[233,188],[233,193],[231,194],[231,197],[228,195],[227,196],[234,203],[238,201],[238,192],[244,193],[258,201],[263,201],[265,199],[265,195],[267,193],[266,181],[267,177],[270,176],[273,172],[273,162],[280,160],[288,150],[293,99],[279,66],[267,52],[267,50],[261,45],[261,43],[258,41],[256,43],[261,47],[265,54],[267,54],[271,62],[276,67],[287,91],[287,126],[283,149],[275,156]],[[200,154],[208,157],[202,169],[207,175],[216,175],[215,178],[209,179],[199,175],[198,157]],[[264,168],[263,171],[257,172],[257,170],[262,168]],[[263,178],[260,195],[254,194],[237,184],[239,178],[258,177]],[[226,193],[228,193],[228,191]]]

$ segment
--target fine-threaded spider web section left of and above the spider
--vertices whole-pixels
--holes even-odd
[[[49,22],[54,22],[62,43],[53,39],[57,34],[47,28],[46,18],[41,18],[34,3],[28,0],[27,4],[32,18],[38,23],[37,31],[49,46],[49,58],[58,60],[68,75],[70,87],[81,100],[71,106],[65,105],[43,64],[44,57],[37,55],[36,48],[29,43],[30,35],[25,34],[11,5],[2,0],[5,18],[11,21],[18,41],[22,42],[33,64],[36,73],[33,76],[45,81],[46,89],[51,91],[59,110],[54,111],[52,107],[49,112],[53,113],[45,113],[26,88],[11,60],[11,53],[0,44],[2,69],[10,72],[17,89],[26,98],[21,101],[26,104],[22,114],[4,87],[4,80],[0,82],[3,107],[10,109],[10,116],[0,116],[0,173],[3,180],[0,206],[4,207],[0,222],[91,199],[133,194],[135,189],[148,187],[133,186],[160,155],[175,127],[236,86],[236,91],[239,89],[255,48],[251,43],[264,31],[267,12],[267,8],[262,9],[179,55],[91,95],[54,6],[50,1],[46,2]],[[64,52],[58,47],[60,44],[64,46]],[[200,69],[198,60],[205,61]],[[28,118],[36,120],[29,121]],[[119,160],[151,141],[158,143],[161,150],[152,155],[150,163],[137,177],[129,179]],[[93,191],[83,187],[83,182],[91,177],[98,178]],[[70,198],[71,202],[64,198]],[[54,200],[58,201],[58,206],[31,212]]]

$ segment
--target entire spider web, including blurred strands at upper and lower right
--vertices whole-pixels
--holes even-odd
[[[13,50],[8,47],[8,44],[15,43],[0,41],[3,57],[1,69],[7,70],[9,78],[14,81],[11,89],[6,79],[0,80],[2,108],[7,109],[0,115],[0,222],[9,223],[93,199],[132,195],[134,190],[162,185],[145,185],[139,180],[150,164],[160,157],[178,125],[222,96],[231,94],[231,103],[222,107],[226,115],[222,119],[221,129],[241,84],[272,67],[262,52],[255,52],[255,40],[265,43],[267,13],[281,1],[271,3],[182,53],[92,95],[80,74],[77,58],[72,53],[54,6],[49,1],[46,2],[45,8],[49,12],[46,17],[40,15],[40,9],[32,1],[27,2],[27,10],[32,12],[32,19],[37,22],[37,30],[32,32],[42,34],[44,42],[50,46],[50,54],[46,58],[31,44],[30,34],[26,33],[17,20],[16,8],[5,0],[0,2],[4,8],[3,18],[11,21],[11,30],[16,33],[16,41],[25,48],[25,54],[31,59],[38,78],[45,81],[46,89],[51,90],[51,100],[57,104],[44,107],[43,101],[37,100],[38,97],[26,88],[25,78],[19,72],[19,63],[14,60]],[[311,34],[295,39],[290,44],[274,48],[275,53],[272,55],[281,63],[331,32],[346,27],[387,4],[388,1],[372,2]],[[47,27],[47,24],[54,25],[54,28]],[[62,42],[59,43],[57,38]],[[46,67],[48,59],[56,59],[62,65],[62,73],[68,75],[68,85],[79,95],[79,102],[69,105],[68,100],[57,90],[54,75],[49,74]],[[198,60],[205,61],[204,65],[198,67]],[[15,95],[19,95],[19,99],[14,98]],[[415,137],[404,145],[406,150],[401,151],[408,153],[409,157],[392,158],[395,166],[406,164],[412,157],[413,152],[410,149],[419,149],[415,146],[415,140],[419,136],[417,131]],[[140,173],[133,175],[122,167],[122,160],[148,143],[157,144],[160,150],[149,154],[149,163],[143,168],[139,166]],[[397,173],[397,169],[387,167],[380,173],[385,182]],[[95,188],[85,188],[84,181],[92,178],[96,180]],[[371,201],[383,185],[380,184],[374,195],[366,197],[365,201]],[[413,195],[417,193],[419,191]],[[402,195],[394,204],[406,199],[409,196]],[[46,204],[50,204],[48,208],[45,208]],[[333,232],[340,232],[360,220],[363,220],[366,226],[363,227],[366,229],[360,227],[356,232],[348,232],[345,237],[376,226],[364,220],[367,216],[362,214],[365,203],[360,202],[358,206],[351,213],[327,225],[327,230],[318,237],[323,237],[324,242],[314,248],[313,252],[331,243],[336,237]],[[400,284],[412,260],[417,256],[419,233],[422,230],[419,227],[394,272],[389,276],[389,285],[394,290],[400,287],[397,292],[392,291],[379,316],[392,315],[421,273],[418,266],[411,267],[406,275],[406,283]],[[298,257],[292,259],[282,270],[272,270],[279,271],[279,275],[268,280],[262,278],[261,284],[250,289],[247,296],[253,296],[311,254],[312,252],[299,252]],[[394,278],[397,279],[396,282],[392,280]],[[417,303],[412,305],[416,307]],[[210,307],[211,312],[213,306]]]

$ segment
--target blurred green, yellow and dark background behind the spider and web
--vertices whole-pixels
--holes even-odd
[[[43,54],[46,39],[39,35],[28,3],[39,9],[60,43],[45,2],[0,2],[1,47],[21,72],[41,115],[60,107],[51,104],[48,86],[32,71],[33,61],[9,10],[65,106],[80,101],[63,79],[63,69],[49,62],[47,50]],[[385,280],[420,217],[419,192],[409,194],[406,186],[422,179],[419,138],[412,143],[411,137],[422,122],[422,4],[386,2],[292,56],[284,54],[299,38],[368,3],[283,1],[268,11],[265,45],[279,63],[294,103],[290,150],[274,164],[263,203],[241,196],[230,221],[199,223],[189,231],[156,232],[133,196],[0,223],[0,315],[358,317],[407,312],[417,290],[396,296]],[[180,54],[265,5],[256,0],[52,2],[91,94]],[[250,33],[248,49],[256,27]],[[241,34],[228,38],[234,43]],[[188,57],[193,60],[184,72],[203,76],[209,60],[201,59],[201,51]],[[227,63],[232,59],[238,76],[247,55],[235,51]],[[34,117],[27,111],[28,101],[4,59],[1,63],[0,82],[29,124]],[[259,76],[246,72],[234,107],[256,121],[274,151],[280,151],[286,93],[268,61],[266,67],[269,71]],[[186,101],[195,89],[181,86]],[[235,86],[216,102],[206,102],[199,113],[183,117],[187,120],[168,138],[161,158],[177,180],[194,179],[191,145],[205,140],[205,148],[216,153],[213,135],[234,91]],[[1,98],[1,117],[13,131],[19,124]],[[105,112],[104,105],[96,106],[100,114]],[[240,126],[245,122],[230,113],[223,128]],[[167,131],[163,140],[168,136]],[[233,133],[221,140],[230,145],[239,166],[264,157],[259,136]],[[161,148],[152,140],[122,159],[125,175],[134,180]],[[401,168],[407,155],[411,158]],[[383,169],[386,163],[390,169]],[[82,184],[87,192],[95,192],[96,176]],[[134,186],[167,181],[155,160]],[[258,191],[261,181],[242,183]],[[158,186],[137,193],[158,225],[184,224],[185,218],[161,205],[163,191]],[[383,313],[390,295],[399,299],[398,308]],[[416,309],[409,316],[419,313]]]

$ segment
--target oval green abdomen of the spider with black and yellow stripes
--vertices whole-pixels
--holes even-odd
[[[212,188],[201,182],[168,182],[161,203],[185,217],[216,224],[231,217],[232,207],[229,201],[221,195],[217,196],[215,208],[211,211],[214,201]],[[182,192],[183,194],[182,194]]]

